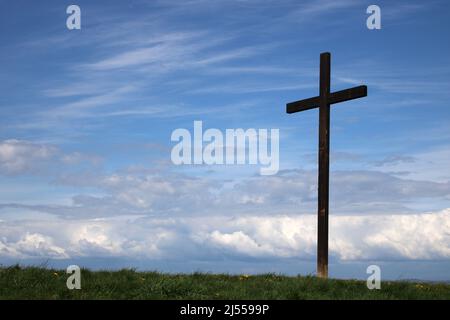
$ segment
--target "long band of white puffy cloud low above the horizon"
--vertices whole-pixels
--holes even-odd
[[[0,233],[0,258],[314,260],[316,251],[315,215],[4,221]],[[449,259],[450,209],[331,216],[330,256],[337,261]]]

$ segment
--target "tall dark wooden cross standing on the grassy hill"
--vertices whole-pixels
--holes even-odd
[[[319,188],[317,227],[317,275],[328,277],[328,191],[330,172],[330,105],[367,96],[367,86],[330,93],[330,53],[320,55],[319,96],[286,105],[287,113],[319,108]]]

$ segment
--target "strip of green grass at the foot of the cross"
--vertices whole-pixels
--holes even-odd
[[[226,274],[164,274],[81,270],[81,290],[68,290],[65,271],[0,268],[0,299],[450,299],[450,285]]]

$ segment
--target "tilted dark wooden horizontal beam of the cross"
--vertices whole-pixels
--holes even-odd
[[[330,93],[327,99],[328,104],[349,101],[367,96],[367,86],[359,86],[346,90]],[[314,97],[286,104],[287,113],[295,113],[318,108],[320,106],[320,97]]]

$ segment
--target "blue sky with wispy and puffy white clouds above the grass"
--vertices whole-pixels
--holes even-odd
[[[0,263],[312,273],[332,90],[330,275],[450,280],[446,1],[0,2]],[[175,166],[177,128],[280,129],[280,172]]]

